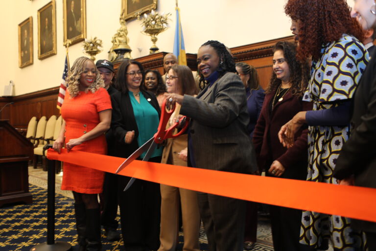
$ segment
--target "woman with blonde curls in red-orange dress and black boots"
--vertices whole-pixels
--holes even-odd
[[[63,124],[53,149],[65,148],[106,154],[104,133],[111,124],[111,99],[103,88],[94,62],[87,57],[77,58],[67,76],[67,93],[61,107]],[[64,140],[65,139],[65,140]],[[62,190],[71,190],[79,250],[101,249],[100,212],[97,200],[102,192],[104,172],[64,163]]]

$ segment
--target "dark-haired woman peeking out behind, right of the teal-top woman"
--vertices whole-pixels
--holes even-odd
[[[162,107],[164,94],[167,92],[167,90],[161,74],[156,70],[146,70],[144,84],[146,90],[155,94],[159,103],[159,107]]]

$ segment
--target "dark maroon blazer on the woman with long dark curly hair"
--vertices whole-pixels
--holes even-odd
[[[295,144],[289,149],[283,147],[280,143],[278,132],[298,112],[312,110],[312,103],[302,101],[302,98],[287,92],[283,100],[277,102],[272,113],[269,114],[269,105],[273,100],[274,94],[275,92],[271,92],[265,96],[261,114],[253,132],[253,144],[258,167],[261,170],[265,168],[267,172],[271,163],[274,160],[278,160],[285,168],[285,172],[281,177],[305,179],[308,162],[308,129],[303,130],[301,128],[296,133]]]

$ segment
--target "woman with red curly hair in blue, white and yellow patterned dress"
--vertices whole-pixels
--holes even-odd
[[[303,100],[313,101],[313,110],[297,113],[282,126],[280,140],[293,146],[295,131],[308,124],[307,180],[337,184],[333,170],[349,138],[350,102],[369,58],[358,40],[362,31],[344,0],[289,0],[285,13],[291,17],[291,30],[299,41],[298,57],[312,57]],[[329,238],[335,251],[360,250],[363,245],[361,234],[350,228],[350,219],[304,211],[300,242],[325,250]]]

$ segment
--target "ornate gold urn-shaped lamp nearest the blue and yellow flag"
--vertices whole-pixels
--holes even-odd
[[[142,20],[143,31],[141,33],[151,36],[151,42],[153,42],[150,48],[150,54],[159,52],[159,48],[155,44],[158,40],[157,35],[165,31],[168,23],[168,17],[170,13],[159,14],[158,12],[152,10],[149,15],[144,14]]]

